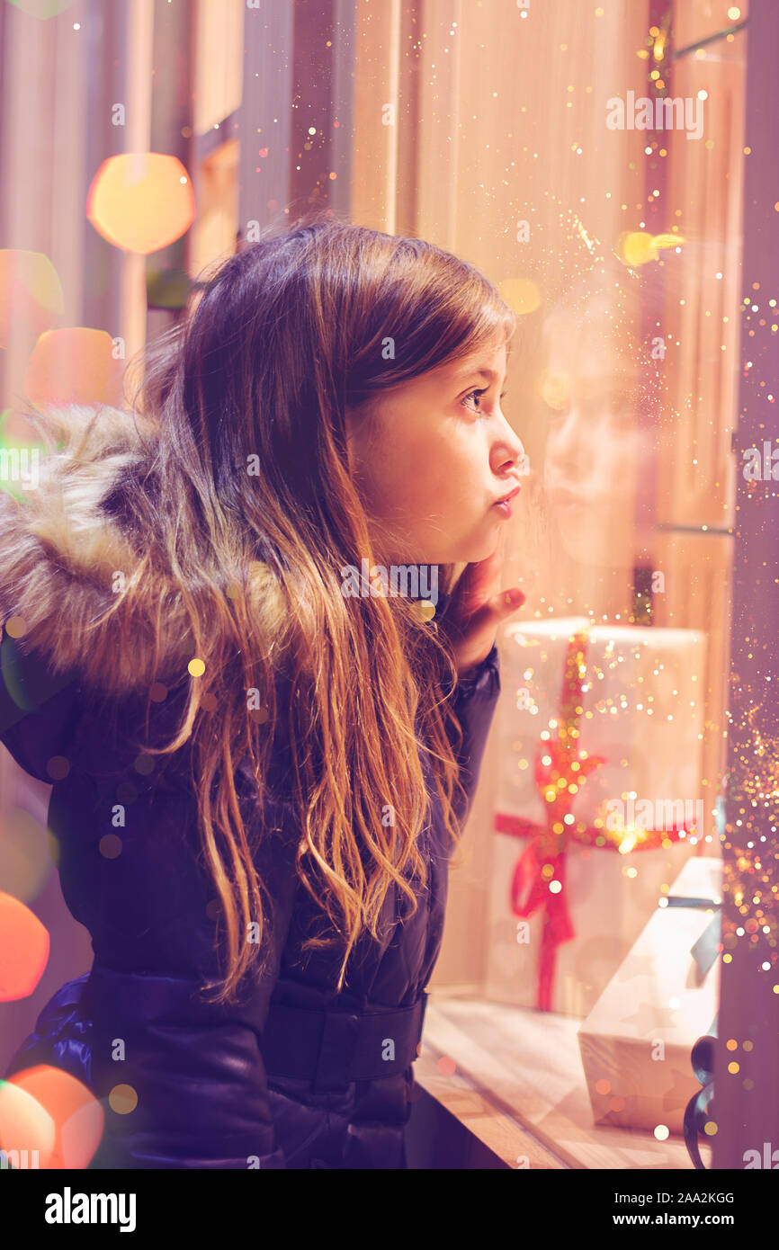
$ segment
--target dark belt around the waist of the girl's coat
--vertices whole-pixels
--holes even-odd
[[[411,1008],[375,1015],[271,1002],[261,1038],[265,1071],[310,1080],[314,1092],[404,1072],[416,1059],[426,1002],[423,992]]]

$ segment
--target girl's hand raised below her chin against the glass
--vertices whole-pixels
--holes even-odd
[[[498,626],[525,601],[519,586],[500,590],[505,530],[493,555],[466,565],[458,581],[444,628],[451,641],[458,675],[464,676],[490,654]]]

